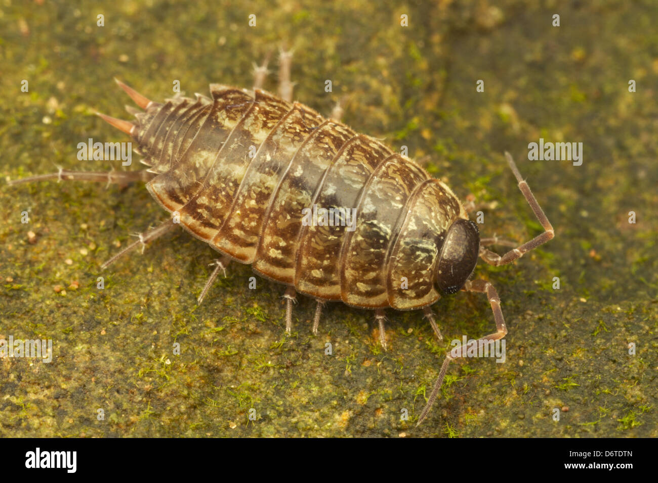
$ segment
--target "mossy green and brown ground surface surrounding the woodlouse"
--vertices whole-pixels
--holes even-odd
[[[656,436],[657,15],[651,1],[1,1],[3,178],[109,170],[76,154],[89,137],[128,141],[93,115],[129,118],[114,76],[161,100],[174,80],[188,95],[251,87],[270,55],[276,91],[285,47],[295,100],[328,115],[343,99],[355,131],[489,203],[483,236],[522,242],[540,226],[509,150],[556,237],[515,265],[478,265],[501,296],[507,361],[453,363],[414,428],[449,341],[493,331],[486,297],[434,306],[442,344],[419,313],[389,311],[382,352],[372,313],[341,304],[313,336],[303,298],[286,337],[284,289],[247,290],[248,266],[197,306],[215,252],[182,231],[97,290],[102,262],[166,218],[143,185],[4,186],[0,339],[50,338],[55,354],[0,359],[0,436]],[[582,166],[529,161],[540,137],[582,142]]]

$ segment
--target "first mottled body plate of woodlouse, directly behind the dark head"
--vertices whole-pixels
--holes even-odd
[[[457,197],[436,179],[420,185],[407,203],[406,216],[388,260],[388,304],[410,310],[433,304],[436,261],[445,231],[457,218],[467,218]],[[403,277],[408,288],[401,288]]]

